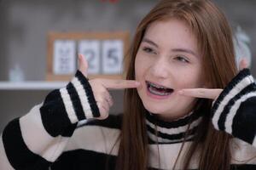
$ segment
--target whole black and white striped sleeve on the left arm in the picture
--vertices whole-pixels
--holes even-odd
[[[79,121],[100,116],[90,83],[80,71],[66,88],[9,122],[0,140],[0,169],[49,169]]]

